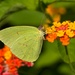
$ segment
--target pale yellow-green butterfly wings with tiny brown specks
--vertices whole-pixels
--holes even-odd
[[[33,62],[41,52],[43,32],[32,26],[14,26],[1,30],[0,40],[15,56]]]

